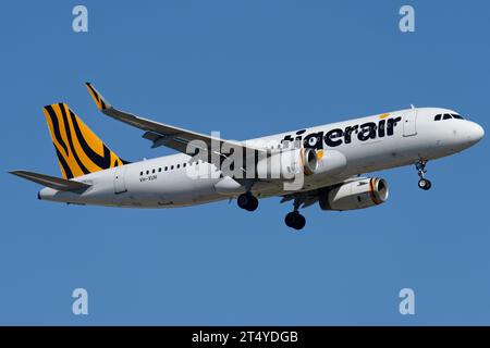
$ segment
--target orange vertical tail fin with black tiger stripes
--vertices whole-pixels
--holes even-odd
[[[46,105],[44,112],[64,178],[128,163],[112,152],[68,104]]]

